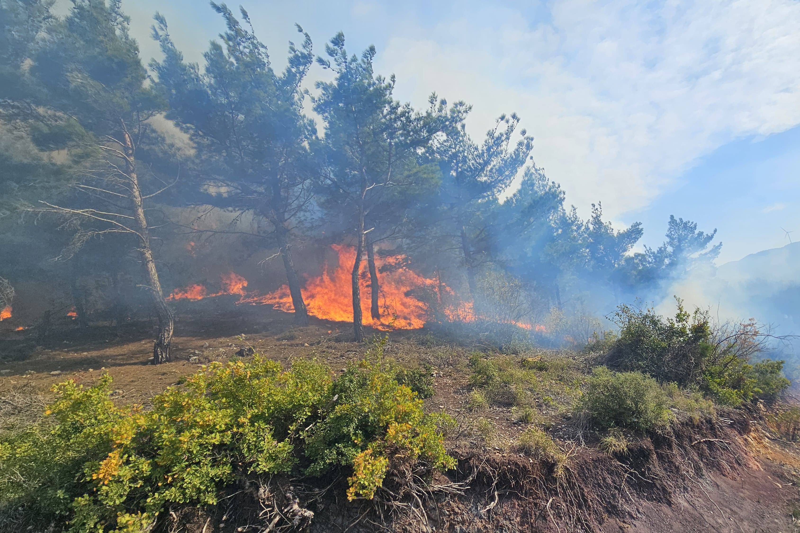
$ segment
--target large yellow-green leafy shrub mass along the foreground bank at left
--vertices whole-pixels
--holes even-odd
[[[72,381],[40,424],[0,443],[0,502],[70,531],[147,531],[168,503],[213,504],[242,475],[352,472],[371,498],[389,457],[454,466],[438,417],[382,364],[382,344],[338,379],[313,360],[214,363],[153,409],[118,408],[111,378]],[[42,453],[46,451],[46,453]]]

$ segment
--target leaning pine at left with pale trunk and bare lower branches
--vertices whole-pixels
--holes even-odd
[[[74,0],[65,18],[42,14],[48,24],[18,70],[30,90],[20,93],[25,101],[16,102],[15,118],[40,149],[70,154],[72,166],[58,184],[62,193],[27,210],[59,217],[63,228],[75,230],[63,252],[68,255],[95,237],[128,243],[158,316],[154,363],[169,361],[174,317],[158,279],[146,204],[177,178],[163,181],[140,164],[139,153],[148,142],[159,144],[152,143],[156,133],[148,120],[162,111],[162,102],[148,88],[118,1]]]

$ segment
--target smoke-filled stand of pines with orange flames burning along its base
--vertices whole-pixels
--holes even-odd
[[[354,340],[480,323],[580,347],[619,304],[670,315],[673,296],[798,333],[796,244],[717,267],[716,230],[674,213],[647,229],[663,244],[641,248],[642,224],[612,224],[602,197],[569,205],[514,109],[474,134],[470,102],[435,86],[427,104],[398,101],[381,50],[341,33],[298,27],[274,68],[284,50],[224,5],[204,8],[226,30],[200,63],[170,36],[182,21],[154,14],[148,62],[122,7],[3,8],[11,335],[46,331],[51,314],[83,328],[152,318],[154,360],[169,360],[176,313],[222,296],[299,325],[351,322]]]

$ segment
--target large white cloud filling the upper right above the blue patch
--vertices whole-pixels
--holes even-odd
[[[646,207],[698,157],[800,123],[800,3],[554,2],[546,23],[482,6],[391,32],[398,96],[474,104],[475,137],[516,111],[534,157],[586,212]],[[501,21],[501,22],[498,22]]]

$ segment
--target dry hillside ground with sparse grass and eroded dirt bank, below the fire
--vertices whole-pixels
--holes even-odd
[[[180,316],[175,360],[158,366],[147,364],[147,331],[135,324],[122,335],[74,330],[41,346],[3,341],[3,435],[38,419],[54,399],[50,386],[66,379],[88,387],[107,372],[114,404],[147,412],[154,395],[181,388],[203,364],[250,361],[250,348],[283,368],[316,359],[334,376],[374,348],[352,342],[346,324],[296,328],[285,313],[264,312]],[[432,378],[424,410],[454,419],[444,440],[453,469],[404,471],[399,463],[374,499],[353,501],[344,497],[346,470],[321,479],[239,471],[220,487],[218,504],[170,504],[153,531],[795,531],[800,455],[786,440],[793,436],[770,423],[786,405],[712,407],[673,392],[669,428],[603,430],[573,407],[597,356],[501,352],[479,332],[455,338],[430,329],[390,332],[383,354],[403,376]],[[409,484],[403,472],[422,477]],[[3,531],[50,531],[38,515],[3,511],[0,520]]]

